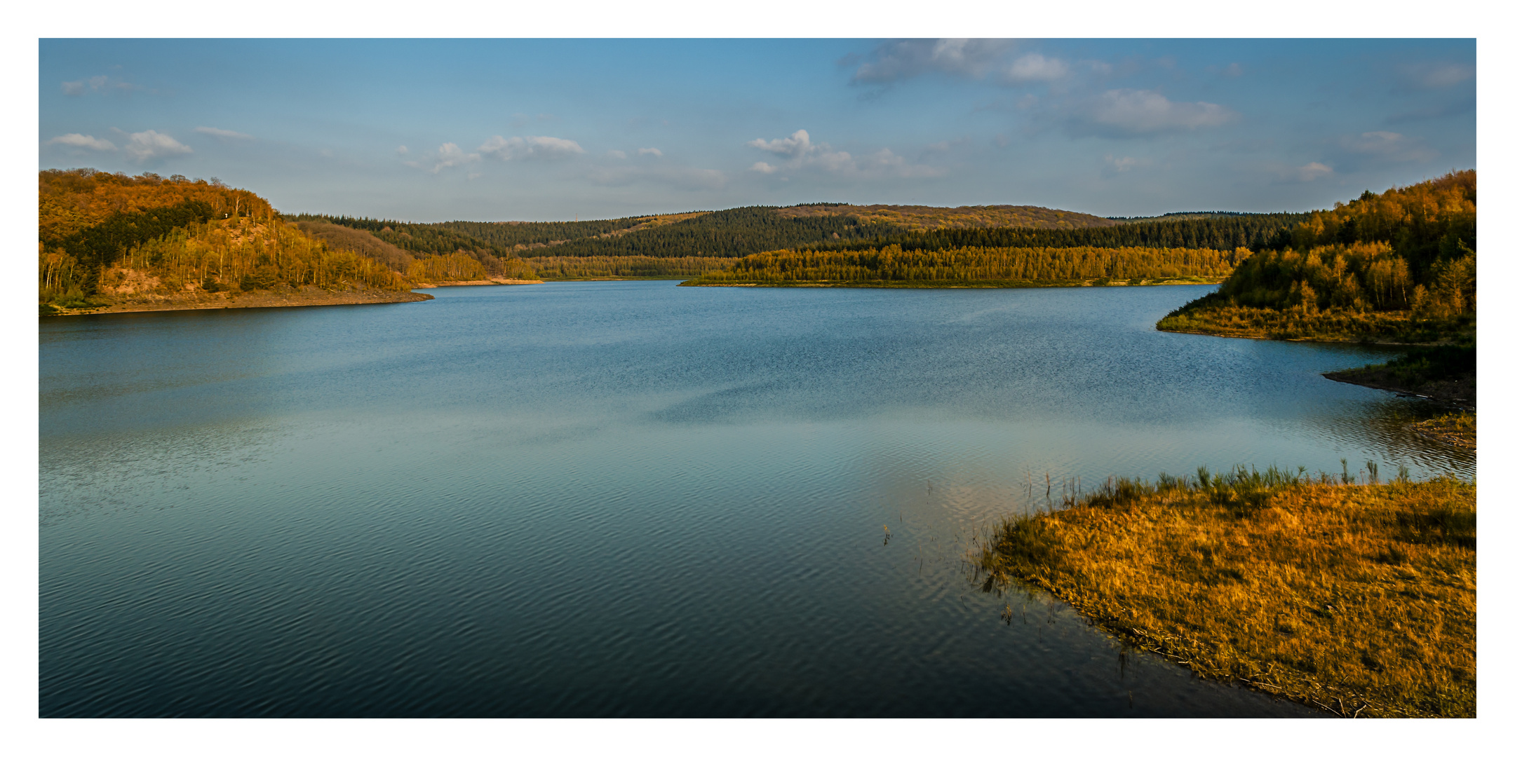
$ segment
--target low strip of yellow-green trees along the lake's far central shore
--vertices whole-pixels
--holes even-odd
[[[961,247],[776,250],[733,262],[683,286],[1053,286],[1112,282],[1217,282],[1250,254],[1150,247]]]

